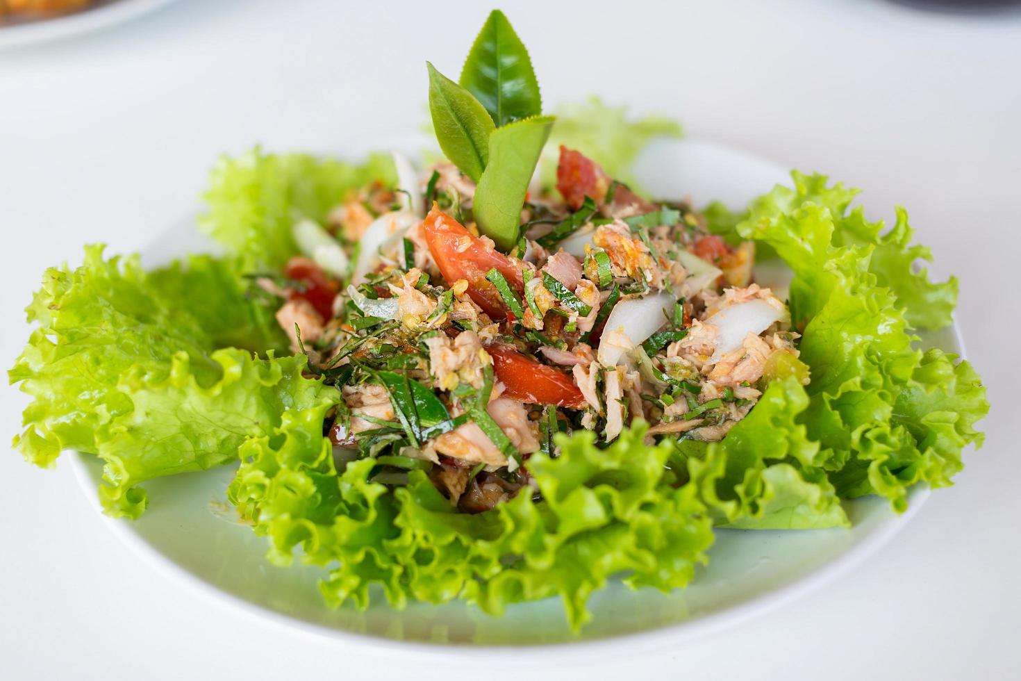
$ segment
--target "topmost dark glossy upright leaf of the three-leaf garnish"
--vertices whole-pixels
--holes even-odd
[[[528,50],[498,9],[490,12],[472,45],[460,85],[482,102],[497,127],[542,113]]]

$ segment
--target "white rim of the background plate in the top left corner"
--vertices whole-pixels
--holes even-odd
[[[0,26],[0,49],[70,38],[127,21],[172,0],[105,0],[81,11]]]

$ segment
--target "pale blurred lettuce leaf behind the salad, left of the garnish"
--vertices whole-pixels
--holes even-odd
[[[280,269],[297,253],[291,234],[301,216],[325,222],[353,190],[393,186],[393,163],[373,154],[355,164],[309,154],[269,154],[255,147],[222,157],[209,172],[201,229],[237,256],[245,272]]]

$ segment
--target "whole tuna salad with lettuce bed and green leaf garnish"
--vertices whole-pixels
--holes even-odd
[[[916,347],[958,285],[914,267],[904,210],[886,231],[796,172],[739,212],[653,199],[629,163],[679,129],[543,114],[498,11],[456,82],[427,70],[443,158],[255,149],[210,176],[225,255],[47,271],[10,371],[26,457],[96,454],[131,519],[145,481],[235,464],[240,518],[330,604],[560,595],[577,627],[612,577],[686,585],[715,528],[904,510],[981,443],[977,374]]]

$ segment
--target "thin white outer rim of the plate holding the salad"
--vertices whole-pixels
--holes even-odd
[[[168,0],[156,1],[164,2]],[[400,137],[406,136],[393,136],[391,139],[399,139]],[[387,136],[383,136],[382,141],[385,143]],[[753,161],[762,165],[772,165],[780,174],[785,175],[787,173],[782,165],[775,161],[712,138],[685,138],[683,142],[712,147],[715,150],[741,156],[748,161]],[[361,145],[354,146],[360,147]],[[382,148],[379,144],[374,146]],[[356,148],[355,153],[357,151],[358,149]],[[157,233],[147,244],[156,243],[167,231],[178,229],[184,222],[194,224],[194,217],[197,214],[198,212],[194,209],[185,213],[182,218],[171,223],[166,229]],[[962,359],[967,358],[964,339],[956,319],[951,325],[951,331],[953,332],[954,341],[958,346],[958,354]],[[160,552],[155,546],[148,543],[142,535],[132,529],[129,521],[113,519],[103,514],[96,494],[95,480],[86,464],[87,459],[93,457],[78,451],[70,453],[71,469],[79,486],[89,499],[90,505],[99,513],[107,527],[136,555],[142,557],[143,562],[154,568],[164,578],[182,584],[192,593],[196,593],[203,599],[212,601],[220,607],[235,613],[241,612],[256,616],[258,620],[266,622],[274,627],[285,629],[292,633],[300,633],[307,639],[318,641],[329,640],[333,643],[364,646],[376,652],[390,654],[399,652],[423,659],[435,659],[437,655],[448,654],[451,650],[456,650],[458,654],[466,655],[466,658],[485,659],[487,661],[501,658],[509,659],[512,656],[520,661],[523,653],[528,654],[533,660],[565,660],[566,658],[575,656],[584,656],[585,659],[592,660],[614,654],[621,643],[627,644],[628,649],[632,652],[662,649],[664,646],[670,644],[686,645],[702,637],[717,634],[778,610],[840,579],[875,554],[896,533],[904,529],[920,512],[922,505],[924,505],[924,502],[930,495],[928,486],[924,484],[916,485],[909,491],[910,503],[905,513],[884,521],[870,534],[853,544],[837,557],[807,573],[794,582],[759,593],[747,600],[725,606],[720,611],[701,617],[682,620],[646,630],[584,640],[566,640],[538,644],[508,643],[505,645],[492,643],[475,644],[471,642],[434,643],[419,640],[398,640],[330,627],[274,610],[220,589],[202,579],[199,575],[182,567],[166,554]],[[613,645],[610,645],[610,643]]]

